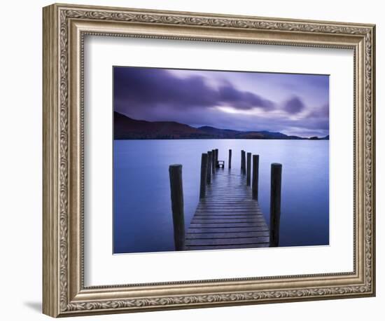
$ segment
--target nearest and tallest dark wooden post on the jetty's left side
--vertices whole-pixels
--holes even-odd
[[[172,221],[174,223],[175,250],[181,251],[185,245],[185,219],[183,212],[182,165],[169,166]]]

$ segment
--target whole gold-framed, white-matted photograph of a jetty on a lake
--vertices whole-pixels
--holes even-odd
[[[375,27],[43,8],[43,313],[375,294]]]

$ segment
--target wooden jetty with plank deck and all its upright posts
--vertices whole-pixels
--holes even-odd
[[[229,158],[231,159],[231,150]],[[241,153],[241,170],[219,168],[218,149],[202,153],[200,200],[185,233],[182,166],[170,165],[176,250],[221,250],[279,245],[281,164],[272,164],[270,226],[258,204],[259,156]],[[229,159],[229,165],[230,165]],[[211,173],[208,174],[208,173]],[[210,177],[210,178],[208,178]]]

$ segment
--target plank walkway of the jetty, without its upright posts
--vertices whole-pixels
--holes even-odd
[[[216,170],[190,222],[185,250],[268,246],[269,227],[246,176],[237,170]]]

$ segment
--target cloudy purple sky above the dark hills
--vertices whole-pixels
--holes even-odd
[[[114,110],[193,127],[329,135],[329,76],[113,68]]]

